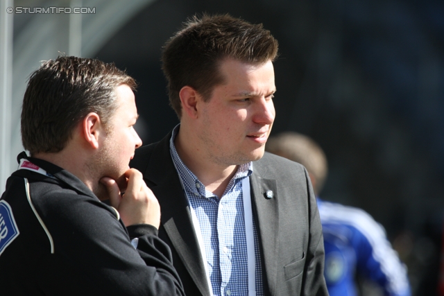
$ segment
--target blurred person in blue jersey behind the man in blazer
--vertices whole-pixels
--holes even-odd
[[[362,209],[319,198],[327,177],[327,158],[317,143],[296,132],[282,132],[268,139],[266,151],[307,168],[323,227],[324,275],[330,296],[358,295],[357,275],[380,286],[384,295],[411,295],[407,270],[384,228]]]

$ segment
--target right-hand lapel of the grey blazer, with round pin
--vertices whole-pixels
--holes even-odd
[[[256,169],[257,162],[253,162],[254,171],[250,176],[253,211],[256,211],[256,225],[259,226],[259,239],[262,243],[262,264],[264,278],[264,290],[268,283],[271,295],[275,295],[277,263],[277,245],[279,233],[279,208],[278,208],[278,186],[276,180],[264,179]],[[266,196],[267,191],[273,191],[273,197]]]

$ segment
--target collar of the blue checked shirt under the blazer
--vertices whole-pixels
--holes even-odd
[[[176,125],[171,133],[171,138],[169,139],[169,150],[171,153],[171,158],[173,159],[174,164],[176,165],[176,169],[180,178],[182,179],[183,186],[185,187],[185,191],[191,191],[191,193],[198,194],[200,196],[205,196],[206,198],[210,198],[214,196],[214,194],[207,192],[205,190],[205,186],[202,182],[198,180],[196,175],[185,166],[180,159],[178,152],[176,150],[176,146],[174,146],[174,139],[180,129],[180,123]],[[253,173],[253,163],[248,162],[246,164],[241,164],[239,168],[237,168],[237,172],[232,177],[232,181],[236,182],[237,180],[243,179],[244,177],[249,177]],[[230,181],[230,184],[234,184],[234,182]],[[230,184],[228,185],[230,187]],[[228,189],[228,188],[227,188]]]

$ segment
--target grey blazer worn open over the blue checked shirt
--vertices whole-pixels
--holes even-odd
[[[160,202],[159,236],[171,247],[185,293],[210,296],[191,213],[169,152],[171,132],[135,151],[130,166]],[[259,226],[265,295],[328,295],[324,246],[316,199],[307,171],[266,153],[250,176],[253,217]],[[273,198],[266,191],[273,191]]]

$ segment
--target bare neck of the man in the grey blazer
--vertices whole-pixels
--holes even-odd
[[[205,185],[205,189],[222,197],[228,183],[237,171],[237,166],[223,166],[216,164],[211,157],[202,150],[195,132],[189,132],[187,128],[180,126],[180,130],[174,139],[174,146],[182,162],[198,180]]]

